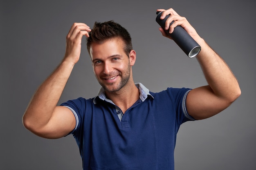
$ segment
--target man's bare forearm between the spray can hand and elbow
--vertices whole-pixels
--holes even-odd
[[[218,98],[233,102],[240,95],[240,87],[225,61],[199,38],[202,50],[197,56],[204,76]]]

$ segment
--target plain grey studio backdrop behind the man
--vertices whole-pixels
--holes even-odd
[[[242,95],[222,113],[183,124],[175,148],[176,170],[253,170],[255,150],[254,0],[25,0],[0,4],[0,169],[81,170],[73,137],[43,139],[22,126],[27,104],[65,53],[73,22],[93,26],[115,20],[128,29],[137,61],[135,82],[152,92],[206,85],[195,58],[189,59],[155,22],[158,8],[174,8],[228,63]],[[85,47],[60,103],[96,95],[99,84]]]

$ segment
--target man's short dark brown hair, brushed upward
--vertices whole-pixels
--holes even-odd
[[[124,52],[129,57],[132,50],[132,39],[126,28],[113,20],[107,22],[95,22],[92,31],[87,38],[87,50],[90,54],[90,46],[93,42],[102,43],[105,40],[120,37],[124,41]],[[90,54],[91,55],[91,54]]]

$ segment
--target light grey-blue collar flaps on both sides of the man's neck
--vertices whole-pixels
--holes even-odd
[[[139,89],[139,98],[141,99],[142,102],[144,102],[148,97],[154,99],[154,97],[149,93],[149,90],[143,84],[135,83],[135,85]],[[94,104],[97,104],[97,98],[109,101],[109,99],[106,98],[105,90],[103,89],[103,87],[99,89],[97,96],[93,99]]]

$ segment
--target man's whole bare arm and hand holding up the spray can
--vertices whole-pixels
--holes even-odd
[[[192,89],[188,93],[186,108],[189,115],[199,120],[214,116],[226,109],[241,94],[238,81],[228,65],[196,33],[185,17],[181,17],[173,9],[159,9],[157,11],[164,11],[160,19],[171,14],[166,20],[166,30],[169,29],[169,32],[172,33],[175,26],[180,25],[201,46],[197,59],[209,85]],[[169,27],[172,21],[174,22]],[[163,36],[168,37],[162,28],[159,30]]]

